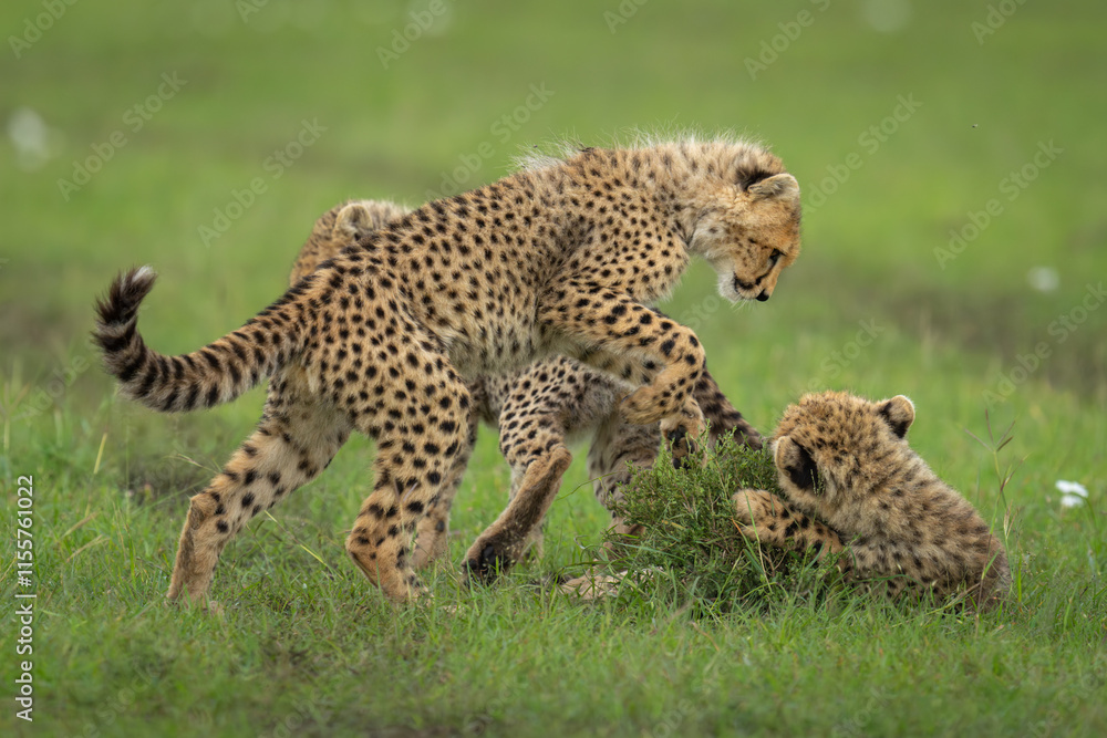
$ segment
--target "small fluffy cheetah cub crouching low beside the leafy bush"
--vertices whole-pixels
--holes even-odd
[[[734,496],[743,534],[778,547],[846,552],[855,580],[884,580],[987,607],[1011,588],[1000,541],[973,506],[938,478],[906,435],[914,406],[840,392],[806,395],[769,439],[787,501],[759,489]]]

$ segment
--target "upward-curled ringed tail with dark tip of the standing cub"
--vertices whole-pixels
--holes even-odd
[[[94,342],[122,393],[163,413],[230,402],[286,364],[301,347],[298,298],[301,281],[241,329],[190,354],[166,356],[146,346],[137,331],[138,305],[157,273],[138,267],[121,273],[96,302]]]

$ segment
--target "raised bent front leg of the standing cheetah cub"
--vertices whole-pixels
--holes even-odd
[[[691,329],[659,316],[625,293],[581,280],[558,287],[539,306],[538,319],[576,346],[573,357],[597,368],[597,349],[639,362],[642,374],[652,362],[659,368],[649,384],[623,399],[624,417],[639,425],[660,422],[661,432],[674,443],[700,436],[703,413],[692,389],[705,358]]]

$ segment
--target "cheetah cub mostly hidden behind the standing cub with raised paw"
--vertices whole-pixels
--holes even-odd
[[[315,221],[292,269],[291,282],[294,284],[343,248],[405,214],[399,205],[382,200],[356,200],[327,211]],[[632,425],[620,415],[619,398],[630,391],[629,386],[571,358],[557,356],[519,372],[477,376],[467,381],[466,387],[472,404],[468,447],[463,449],[463,456],[472,451],[477,423],[484,420],[499,429],[500,451],[511,465],[510,503],[465,557],[469,574],[483,580],[505,571],[529,549],[540,549],[542,518],[571,459],[567,446],[570,438],[591,437],[588,475],[593,479],[597,498],[612,510],[630,482],[627,465],[652,466],[661,445],[656,424]],[[311,394],[307,387],[291,383],[284,391]],[[708,440],[733,432],[761,448],[761,435],[720,392],[706,370],[693,395],[710,420]],[[443,486],[437,503],[427,507],[430,520],[420,527],[415,539],[416,569],[446,549],[449,509],[461,476],[453,476],[451,481]],[[615,530],[637,532],[612,516]]]

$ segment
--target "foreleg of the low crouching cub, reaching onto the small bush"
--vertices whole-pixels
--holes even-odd
[[[746,538],[782,549],[819,549],[819,558],[842,550],[841,539],[826,523],[815,520],[763,489],[734,495],[735,526]]]

